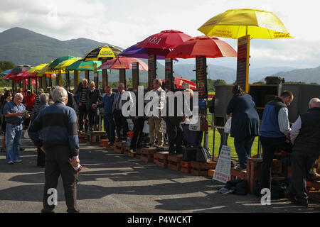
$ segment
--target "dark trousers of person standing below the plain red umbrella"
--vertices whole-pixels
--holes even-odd
[[[166,133],[168,134],[169,153],[182,153],[183,130],[181,127],[181,117],[166,117]],[[176,145],[176,148],[175,146]]]

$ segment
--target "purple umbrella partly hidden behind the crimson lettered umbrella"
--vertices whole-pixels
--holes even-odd
[[[126,57],[137,57],[137,58],[148,58],[148,55],[156,55],[157,60],[164,60],[166,55],[169,54],[170,50],[162,50],[155,48],[138,48],[139,43],[132,45],[126,50],[119,53],[117,56],[126,56]],[[174,59],[176,60],[176,59]]]

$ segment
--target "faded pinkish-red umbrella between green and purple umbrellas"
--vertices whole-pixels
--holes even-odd
[[[148,65],[142,60],[139,60],[134,57],[116,57],[115,59],[108,60],[107,62],[103,63],[97,70],[131,70],[132,63],[139,62],[139,70],[148,71]]]

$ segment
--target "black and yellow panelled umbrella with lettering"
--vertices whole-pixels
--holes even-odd
[[[112,45],[105,45],[91,50],[84,57],[82,57],[81,60],[86,62],[97,60],[110,60],[112,58],[115,58],[122,51],[123,50],[116,48]]]

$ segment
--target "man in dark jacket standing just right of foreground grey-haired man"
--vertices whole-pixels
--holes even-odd
[[[78,86],[73,98],[79,107],[79,131],[83,131],[83,123],[85,122],[85,131],[87,131],[87,79],[82,79],[82,84]]]

